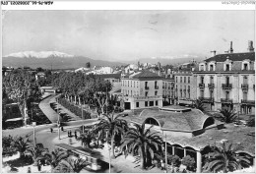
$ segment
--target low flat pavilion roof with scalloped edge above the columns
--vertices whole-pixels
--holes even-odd
[[[160,135],[163,138],[163,135]],[[204,134],[193,138],[185,137],[167,137],[167,142],[170,144],[192,146],[196,150],[203,149],[208,145],[221,145],[223,141],[228,144],[241,145],[244,147],[242,151],[248,152],[250,155],[255,155],[255,128],[246,126],[233,126],[233,124],[225,125],[225,129],[207,130]]]

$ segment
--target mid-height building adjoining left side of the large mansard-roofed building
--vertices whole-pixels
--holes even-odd
[[[188,67],[179,68],[173,71],[174,88],[175,88],[175,104],[192,105],[196,99],[196,86],[193,77],[195,63]]]

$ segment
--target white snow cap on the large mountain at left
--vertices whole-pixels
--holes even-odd
[[[74,57],[74,55],[66,54],[58,51],[24,51],[6,55],[5,57],[18,57],[18,58],[48,58],[48,57]]]

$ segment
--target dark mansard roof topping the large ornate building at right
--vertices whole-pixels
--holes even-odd
[[[206,59],[206,62],[216,61],[216,62],[224,62],[228,57],[231,61],[243,61],[245,59],[249,59],[251,61],[255,60],[255,52],[245,52],[245,53],[228,53],[228,54],[219,54],[209,59]]]

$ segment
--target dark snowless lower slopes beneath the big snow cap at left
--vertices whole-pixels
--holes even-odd
[[[28,66],[31,68],[41,67],[43,69],[73,69],[86,67],[86,63],[90,62],[91,67],[97,66],[120,66],[125,65],[120,62],[109,62],[103,60],[95,60],[88,57],[47,57],[47,58],[35,58],[35,57],[3,57],[2,65],[6,67],[24,67]]]

